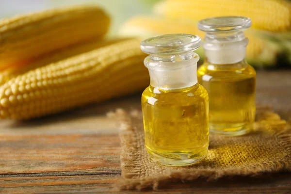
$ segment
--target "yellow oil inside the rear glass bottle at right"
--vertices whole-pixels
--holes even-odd
[[[209,94],[210,131],[236,136],[248,133],[255,120],[256,71],[245,62],[204,64],[198,82]]]

